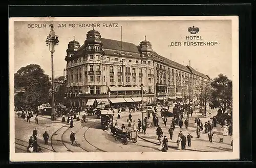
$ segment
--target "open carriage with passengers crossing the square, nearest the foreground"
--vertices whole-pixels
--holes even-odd
[[[111,134],[114,136],[116,141],[120,139],[124,145],[127,145],[128,141],[136,143],[138,140],[137,131],[131,129],[120,129],[113,127],[111,128]]]

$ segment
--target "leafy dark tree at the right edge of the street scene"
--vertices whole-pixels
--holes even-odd
[[[222,113],[227,109],[232,113],[232,81],[223,74],[220,74],[211,82],[214,88],[212,91],[212,105],[219,107]]]

